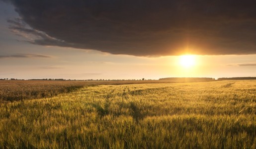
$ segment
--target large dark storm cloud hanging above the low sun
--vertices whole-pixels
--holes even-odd
[[[32,28],[12,29],[40,36],[33,44],[135,56],[256,54],[256,0],[4,1]]]

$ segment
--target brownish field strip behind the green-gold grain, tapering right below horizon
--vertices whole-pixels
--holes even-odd
[[[35,98],[53,97],[68,93],[78,88],[95,85],[174,83],[202,81],[195,79],[172,80],[87,80],[87,81],[45,81],[45,80],[0,80],[0,101],[15,101]],[[209,81],[209,80],[206,80]],[[214,80],[211,80],[214,81]]]

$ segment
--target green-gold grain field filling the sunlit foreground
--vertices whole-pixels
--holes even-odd
[[[0,103],[0,148],[256,148],[256,81],[85,86]]]

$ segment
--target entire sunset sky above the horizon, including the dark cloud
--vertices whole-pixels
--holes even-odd
[[[256,76],[255,0],[0,0],[0,78]],[[194,65],[181,65],[193,55]]]

